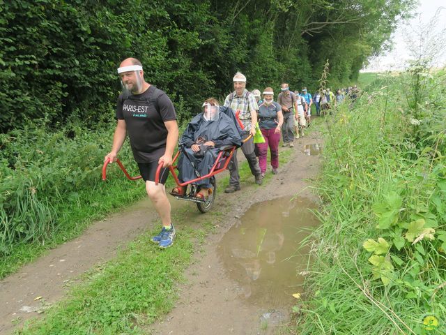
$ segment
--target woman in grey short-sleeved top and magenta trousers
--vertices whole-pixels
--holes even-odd
[[[266,173],[266,158],[268,156],[268,147],[271,153],[272,174],[277,174],[279,168],[279,141],[280,128],[284,122],[282,107],[274,100],[274,91],[267,87],[263,91],[263,103],[259,106],[259,126],[265,143],[257,143],[259,152],[259,165],[262,177]]]

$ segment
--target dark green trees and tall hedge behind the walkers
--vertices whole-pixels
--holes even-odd
[[[209,96],[249,88],[317,88],[325,59],[332,84],[357,76],[413,0],[291,1],[0,0],[0,131],[25,119],[54,125],[76,114],[110,119],[126,57],[167,91],[180,120]],[[377,24],[379,22],[379,24]]]

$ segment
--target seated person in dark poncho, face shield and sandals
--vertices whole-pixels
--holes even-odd
[[[202,105],[203,112],[198,114],[187,125],[180,140],[183,150],[178,158],[178,179],[183,183],[209,173],[215,163],[220,147],[233,145],[240,147],[242,137],[240,127],[236,124],[233,111],[229,107],[220,106],[215,98],[208,98]],[[197,198],[205,199],[211,192],[210,179],[199,180]],[[184,195],[185,188],[176,186],[171,194]]]

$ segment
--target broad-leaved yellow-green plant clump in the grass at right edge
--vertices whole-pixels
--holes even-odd
[[[401,172],[402,186],[372,206],[380,237],[362,244],[372,253],[371,272],[386,286],[402,286],[406,298],[429,301],[444,286],[445,176],[443,164],[431,172]]]

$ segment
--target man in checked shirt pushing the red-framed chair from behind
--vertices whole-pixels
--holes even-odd
[[[254,134],[256,133],[257,124],[257,105],[254,95],[246,89],[246,77],[242,73],[238,72],[233,77],[234,91],[226,96],[224,101],[224,107],[230,107],[234,113],[238,116],[246,136],[251,134],[252,137],[242,145],[243,154],[245,154],[246,160],[251,169],[251,173],[256,180],[256,184],[262,184],[262,177],[259,168],[259,162],[257,161],[256,154],[254,153]],[[240,174],[238,174],[238,161],[237,151],[234,152],[231,163],[229,163],[229,186],[224,190],[225,193],[233,193],[240,190]]]

